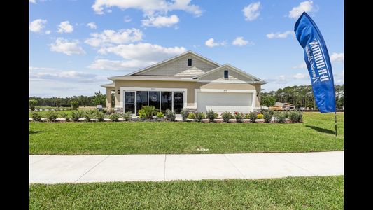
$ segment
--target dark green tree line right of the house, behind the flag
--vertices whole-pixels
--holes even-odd
[[[335,85],[335,98],[337,109],[342,109],[344,106],[344,85]],[[260,104],[262,106],[274,106],[275,102],[290,103],[295,108],[317,109],[311,85],[284,87],[283,89],[260,94]]]

